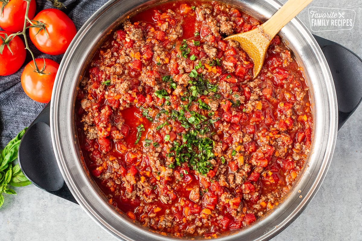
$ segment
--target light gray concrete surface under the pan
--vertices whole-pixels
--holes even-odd
[[[362,56],[361,0],[314,0],[310,6],[355,10],[352,30],[315,34],[338,42]],[[307,9],[298,17],[310,29]],[[338,132],[331,167],[315,198],[273,241],[362,240],[361,123],[362,106]],[[16,192],[17,196],[6,196],[0,210],[0,241],[116,240],[78,205],[34,185],[16,188]]]

